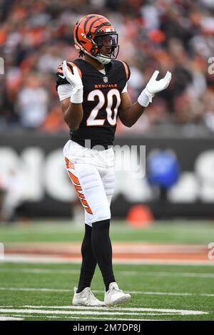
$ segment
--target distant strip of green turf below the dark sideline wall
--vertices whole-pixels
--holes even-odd
[[[0,242],[81,242],[83,225],[69,221],[0,225]],[[111,222],[113,241],[199,243],[214,242],[214,222],[158,222],[146,229],[133,229],[126,222]]]

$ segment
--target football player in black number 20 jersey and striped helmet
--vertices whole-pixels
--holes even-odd
[[[85,212],[82,264],[73,305],[113,306],[131,299],[118,288],[113,274],[109,237],[110,203],[114,183],[113,139],[117,118],[131,127],[168,87],[171,73],[157,81],[153,73],[136,103],[127,92],[130,69],[118,56],[118,33],[106,17],[90,14],[78,20],[73,31],[81,58],[63,61],[56,73],[56,89],[70,140],[63,148],[66,168]],[[106,287],[104,301],[91,292],[98,264]]]

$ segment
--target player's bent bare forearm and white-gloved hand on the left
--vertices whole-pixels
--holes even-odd
[[[63,61],[63,76],[71,88],[70,98],[61,100],[63,118],[71,130],[77,130],[83,118],[83,83],[81,73],[76,66],[68,67]]]

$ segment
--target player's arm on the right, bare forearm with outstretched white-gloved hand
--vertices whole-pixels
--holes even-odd
[[[133,104],[131,102],[131,98],[127,92],[121,94],[118,116],[126,127],[134,125],[148,104],[152,102],[153,96],[168,87],[171,80],[171,73],[168,71],[164,78],[160,81],[156,81],[158,73],[159,71],[153,73],[153,76],[151,76],[150,81],[148,81],[146,88],[144,88],[136,103]]]

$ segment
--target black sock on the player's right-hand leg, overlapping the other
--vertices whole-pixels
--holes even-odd
[[[115,282],[112,267],[112,247],[109,237],[110,219],[92,224],[91,244],[103,281],[108,291],[109,284]]]

